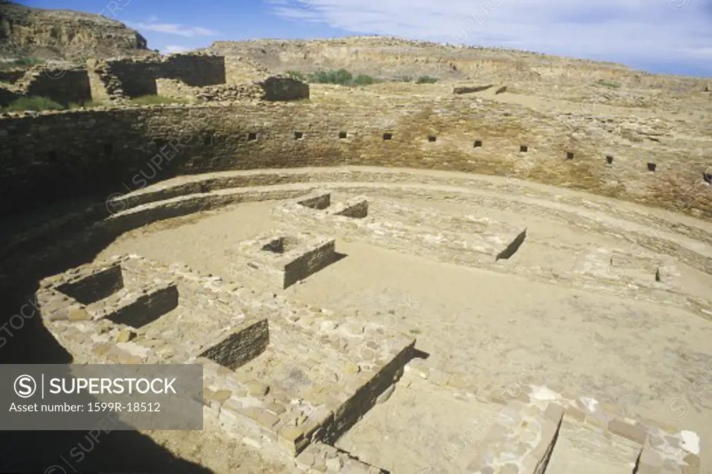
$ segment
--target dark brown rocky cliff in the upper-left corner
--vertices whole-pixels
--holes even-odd
[[[150,53],[146,39],[120,21],[0,0],[0,56],[75,59],[145,53]]]

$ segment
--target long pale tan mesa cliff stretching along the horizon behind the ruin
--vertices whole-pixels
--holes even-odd
[[[510,93],[589,103],[587,109],[592,103],[651,107],[708,86],[703,78],[645,73],[617,63],[389,36],[215,41],[206,51],[225,56],[226,64],[239,60],[273,73],[345,68],[387,81],[432,76],[465,86],[504,84]]]

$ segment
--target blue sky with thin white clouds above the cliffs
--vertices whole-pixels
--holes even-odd
[[[712,0],[28,0],[104,14],[163,53],[216,40],[403,36],[712,76]]]

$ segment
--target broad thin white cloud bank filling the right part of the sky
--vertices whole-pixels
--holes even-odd
[[[268,0],[278,16],[353,34],[708,67],[708,0]]]

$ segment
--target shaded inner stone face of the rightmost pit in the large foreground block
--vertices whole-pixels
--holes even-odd
[[[267,319],[261,319],[250,326],[234,331],[214,346],[206,349],[200,357],[205,357],[230,370],[239,369],[262,354],[269,344]]]

